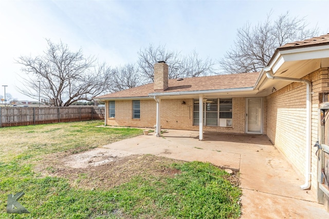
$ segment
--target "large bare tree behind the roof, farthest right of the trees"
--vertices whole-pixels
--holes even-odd
[[[221,73],[257,72],[265,67],[276,48],[316,35],[318,28],[307,29],[305,17],[290,17],[286,12],[275,21],[266,21],[237,30],[234,47],[220,60]]]

